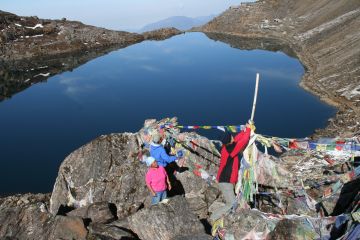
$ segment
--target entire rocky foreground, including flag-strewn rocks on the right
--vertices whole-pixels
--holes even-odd
[[[49,194],[0,198],[0,238],[211,239],[207,220],[224,206],[214,181],[219,152],[213,141],[194,132],[181,133],[171,127],[176,124],[176,118],[147,120],[137,133],[100,136],[79,148],[60,166],[51,198]],[[170,198],[150,206],[143,159],[155,131],[167,138],[170,152],[181,150],[185,161],[168,171]],[[252,200],[240,199],[221,224],[212,222],[218,236],[336,238],[357,224],[350,218],[344,222],[347,229],[342,225],[338,230],[334,224],[359,209],[360,169],[346,159],[350,155],[337,152],[322,158],[296,149],[278,159],[257,148],[251,152],[255,167],[249,175],[254,176],[256,184],[251,186],[256,190],[252,187]]]

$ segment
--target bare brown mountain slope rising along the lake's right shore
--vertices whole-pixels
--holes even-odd
[[[359,29],[357,0],[267,0],[232,7],[198,30],[235,46],[234,36],[288,45],[307,70],[301,85],[339,108],[318,134],[352,136],[360,134]]]

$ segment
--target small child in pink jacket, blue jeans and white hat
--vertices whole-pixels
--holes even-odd
[[[145,181],[153,196],[151,204],[154,205],[167,198],[166,190],[168,188],[171,190],[171,184],[165,169],[158,166],[155,158],[148,157],[146,165],[149,167],[149,170],[146,173]]]

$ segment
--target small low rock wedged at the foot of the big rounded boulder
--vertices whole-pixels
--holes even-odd
[[[91,219],[92,222],[96,223],[107,223],[116,218],[112,213],[111,205],[107,202],[98,202],[90,204],[89,206],[77,208],[66,215]]]

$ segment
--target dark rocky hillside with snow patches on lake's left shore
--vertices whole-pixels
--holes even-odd
[[[161,37],[179,33],[178,30],[167,31]],[[158,39],[158,34],[153,33],[151,39]],[[20,17],[0,11],[0,62],[85,53],[115,45],[121,48],[143,40],[141,34],[112,31],[66,19]]]

